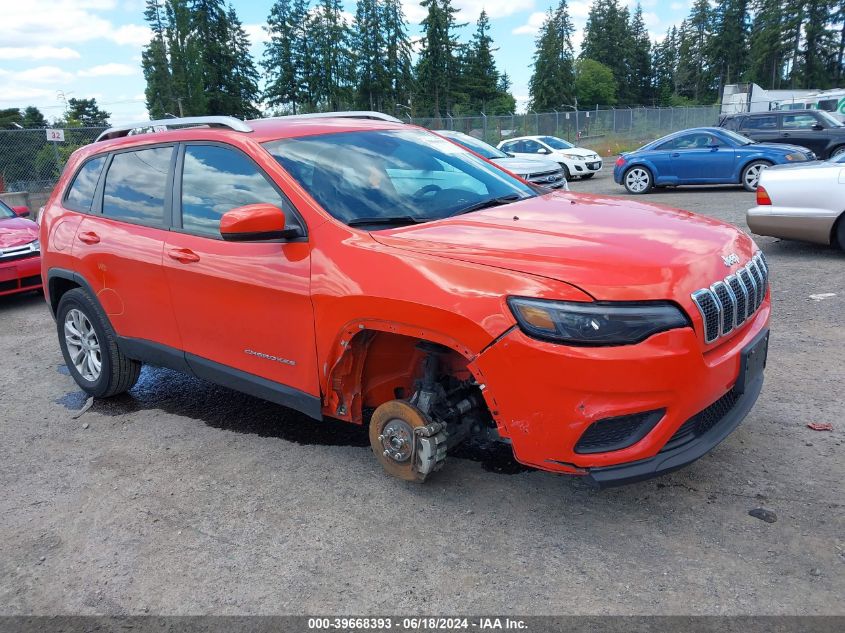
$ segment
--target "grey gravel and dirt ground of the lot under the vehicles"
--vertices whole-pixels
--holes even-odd
[[[572,188],[623,194],[608,172]],[[648,199],[743,228],[753,200]],[[159,369],[73,419],[43,299],[0,299],[0,612],[845,613],[845,254],[758,243],[756,408],[689,468],[603,492],[471,451],[391,480],[357,428]]]

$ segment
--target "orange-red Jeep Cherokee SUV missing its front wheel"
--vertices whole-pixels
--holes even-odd
[[[467,438],[597,485],[683,466],[753,406],[768,266],[733,226],[548,192],[377,113],[104,132],[41,222],[71,375],[141,363],[369,424],[422,481]]]

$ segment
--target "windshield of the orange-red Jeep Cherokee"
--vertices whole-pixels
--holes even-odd
[[[264,143],[323,209],[353,225],[412,224],[533,197],[506,172],[420,130],[367,130]],[[499,202],[497,202],[499,201]]]

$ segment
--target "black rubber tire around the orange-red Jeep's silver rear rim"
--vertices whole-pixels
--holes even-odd
[[[65,322],[72,310],[76,311],[74,316],[81,315],[81,318],[84,317],[87,320],[87,325],[91,326],[96,336],[92,340],[99,347],[99,352],[95,352],[95,355],[100,362],[100,371],[93,379],[83,376],[71,358],[69,340],[74,337],[69,338],[66,335]],[[121,353],[117,347],[117,335],[111,323],[100,305],[85,290],[74,288],[62,295],[56,310],[56,328],[65,365],[76,384],[87,394],[95,398],[108,398],[129,391],[138,381],[141,363]],[[83,370],[85,370],[84,366]]]

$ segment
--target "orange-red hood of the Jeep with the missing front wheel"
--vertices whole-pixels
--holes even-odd
[[[669,299],[735,272],[754,243],[732,225],[655,204],[551,193],[377,231],[382,244],[563,281],[598,300]],[[722,257],[736,254],[739,264]]]

